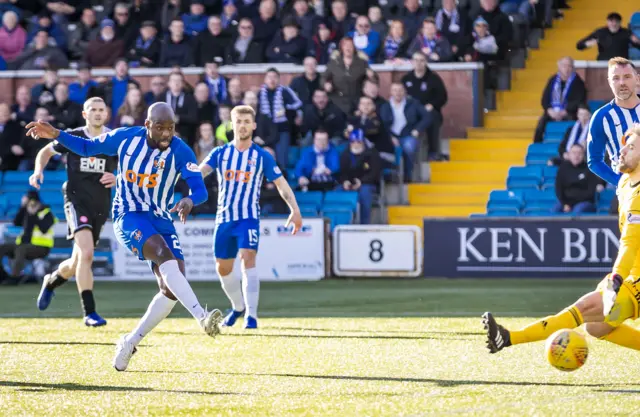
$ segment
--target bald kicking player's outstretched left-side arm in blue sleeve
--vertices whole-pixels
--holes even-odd
[[[34,139],[56,139],[62,146],[80,156],[94,156],[99,154],[116,155],[118,153],[118,130],[103,133],[97,138],[85,139],[63,132],[42,120],[31,122],[26,127],[27,136]]]

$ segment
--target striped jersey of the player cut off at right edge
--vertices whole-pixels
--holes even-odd
[[[587,163],[594,174],[610,184],[620,180],[618,159],[622,149],[622,136],[634,124],[640,123],[640,105],[625,109],[614,100],[600,107],[591,116],[589,140],[587,143]],[[605,150],[609,154],[611,167],[604,162]]]

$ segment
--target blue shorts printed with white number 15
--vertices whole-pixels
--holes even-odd
[[[258,250],[260,221],[243,219],[216,225],[213,235],[213,256],[235,259],[240,249]]]

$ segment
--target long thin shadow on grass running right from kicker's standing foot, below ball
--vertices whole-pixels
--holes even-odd
[[[318,380],[332,380],[332,381],[358,381],[358,382],[413,382],[419,384],[434,384],[438,387],[459,387],[468,385],[503,385],[503,386],[518,386],[518,387],[593,387],[603,388],[609,387],[611,384],[571,384],[567,382],[531,382],[531,381],[481,381],[481,380],[453,380],[453,379],[437,379],[437,378],[398,378],[387,376],[352,376],[352,375],[302,375],[302,374],[272,374],[272,373],[248,373],[248,372],[199,372],[199,371],[131,371],[139,373],[168,373],[168,374],[215,374],[215,375],[228,375],[228,376],[267,376],[267,377],[281,377],[281,378],[307,378]],[[606,391],[606,390],[598,390]],[[621,392],[621,393],[640,393],[640,391],[606,391],[606,392]]]

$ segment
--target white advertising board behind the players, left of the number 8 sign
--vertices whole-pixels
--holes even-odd
[[[260,220],[260,243],[256,268],[262,281],[311,281],[325,277],[325,226],[323,219],[304,219],[304,225],[295,236],[291,228],[284,227],[285,219]],[[213,220],[175,222],[176,231],[185,258],[187,279],[190,281],[217,281],[213,256]],[[64,242],[67,225],[55,226],[56,247],[49,256],[55,264],[71,255],[71,244]],[[63,245],[64,244],[64,245]],[[240,260],[235,274],[240,274]],[[152,280],[153,274],[146,261],[140,261],[120,246],[107,222],[101,234],[94,258],[94,275],[104,280]]]

